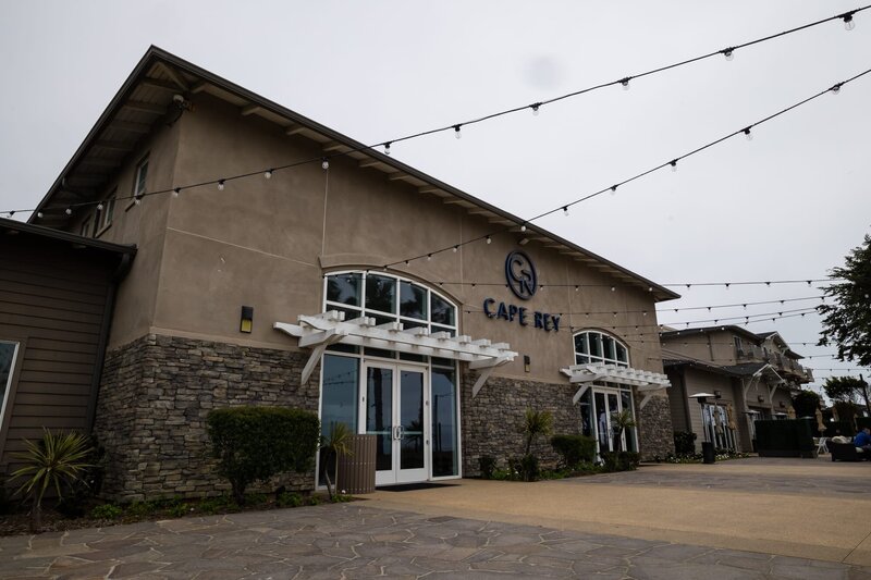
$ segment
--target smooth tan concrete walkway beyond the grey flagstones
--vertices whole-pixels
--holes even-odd
[[[463,480],[379,491],[429,515],[844,562],[871,567],[871,464],[749,458],[536,483]]]

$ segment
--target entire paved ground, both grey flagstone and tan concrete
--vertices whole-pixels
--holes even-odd
[[[854,491],[869,474],[869,464],[757,459],[464,480],[352,504],[0,538],[0,578],[871,579],[871,501]]]

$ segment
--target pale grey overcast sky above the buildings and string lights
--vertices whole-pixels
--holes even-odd
[[[149,45],[364,143],[459,123],[859,8],[854,1],[0,3],[0,211],[33,208]],[[871,69],[871,10],[531,112],[394,145],[522,218]],[[540,225],[659,283],[825,277],[871,232],[871,75]],[[259,169],[259,168],[253,168]],[[217,177],[217,176],[216,176]],[[19,213],[16,219],[26,219]],[[819,296],[686,287],[668,308]],[[664,311],[665,323],[812,307]],[[678,325],[684,328],[685,324]],[[751,323],[802,355],[815,314]],[[815,369],[854,366],[830,358]],[[864,369],[866,378],[869,371]],[[819,386],[837,371],[817,371]],[[856,372],[854,372],[856,374]],[[817,388],[819,391],[819,388]]]

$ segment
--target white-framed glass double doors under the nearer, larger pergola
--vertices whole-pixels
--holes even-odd
[[[364,365],[360,423],[377,435],[376,485],[428,479],[429,385],[422,369]]]

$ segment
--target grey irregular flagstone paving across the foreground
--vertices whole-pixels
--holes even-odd
[[[871,579],[871,568],[366,502],[0,538],[0,578]]]

